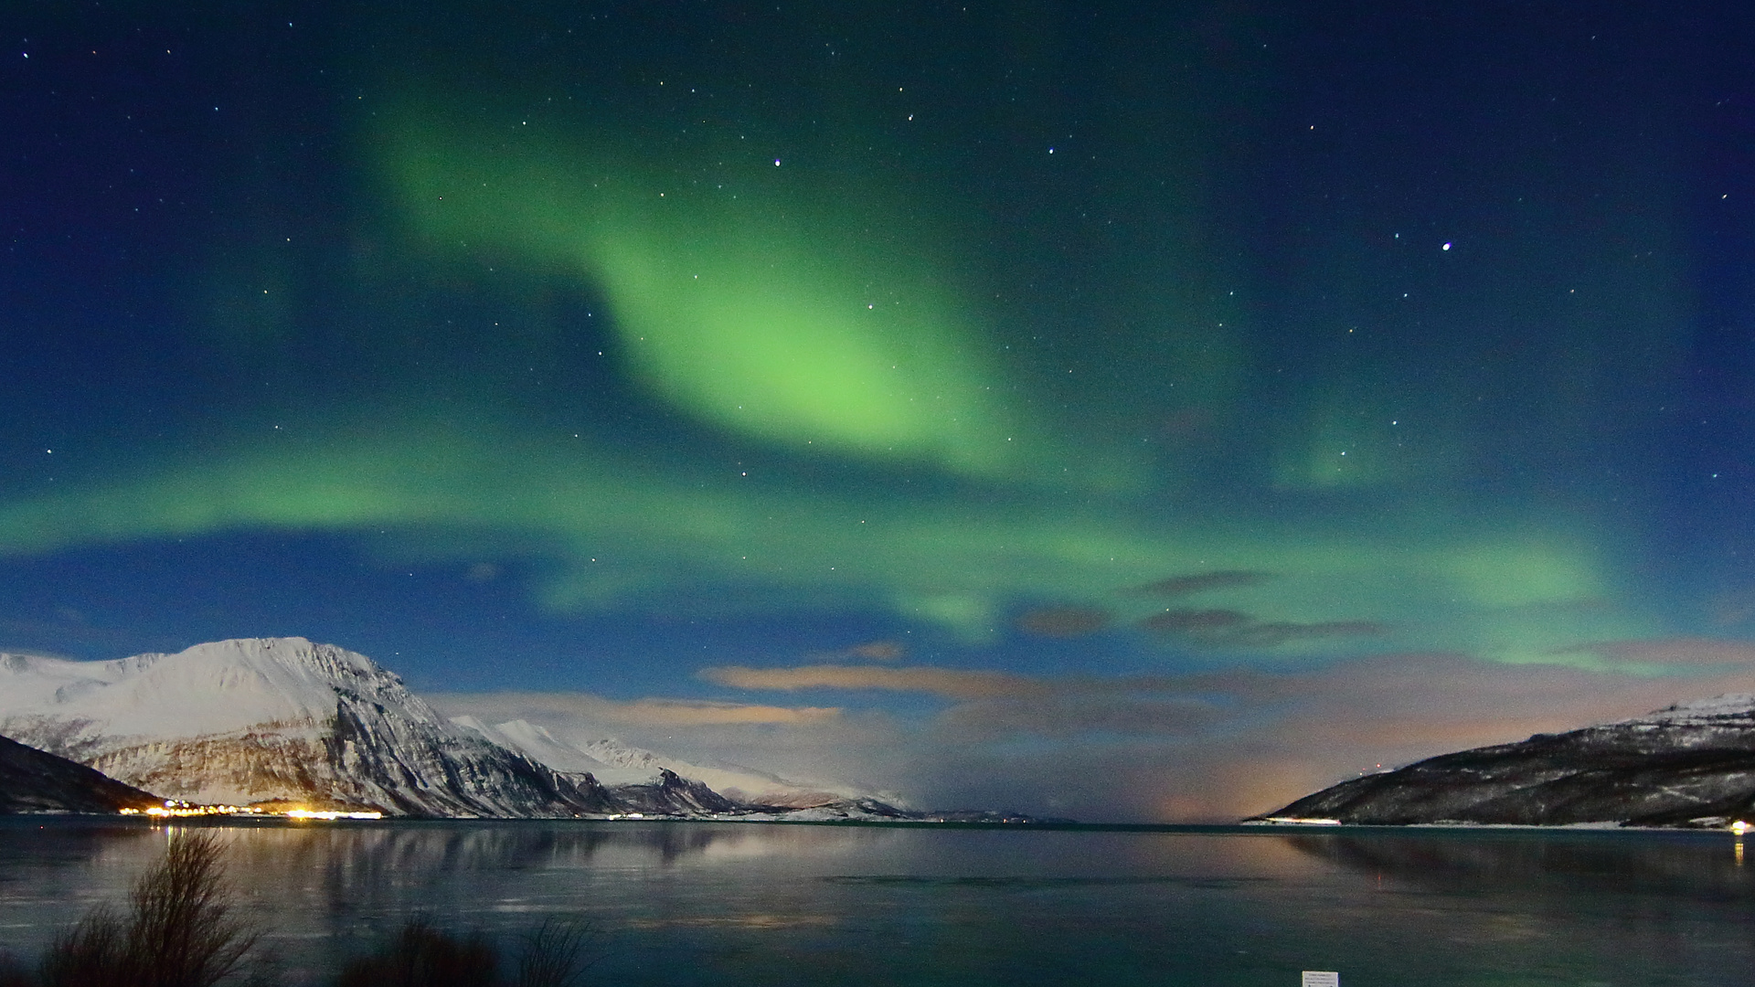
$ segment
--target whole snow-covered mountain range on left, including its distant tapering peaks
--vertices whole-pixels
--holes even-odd
[[[911,813],[525,720],[446,718],[372,659],[304,638],[70,662],[0,653],[0,738],[191,803],[430,817],[1011,818]]]

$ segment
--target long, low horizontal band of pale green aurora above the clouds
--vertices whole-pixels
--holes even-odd
[[[1611,585],[1602,562],[1588,543],[1551,530],[1420,537],[1307,525],[1179,529],[1128,518],[1114,504],[1079,511],[1028,492],[979,508],[813,495],[653,469],[583,441],[553,450],[505,429],[442,430],[369,416],[295,451],[205,455],[133,481],[12,502],[0,509],[0,544],[25,555],[253,529],[397,529],[404,537],[386,550],[395,558],[497,553],[560,562],[541,590],[544,606],[558,611],[674,609],[676,592],[720,587],[721,606],[876,602],[972,641],[990,639],[1020,602],[1146,618],[1162,604],[1130,590],[1199,571],[1272,576],[1202,594],[1202,606],[1216,601],[1272,622],[1385,627],[1381,639],[1364,641],[1292,634],[1269,652],[1444,643],[1499,660],[1595,664],[1560,650],[1643,630],[1622,611],[1601,613]]]

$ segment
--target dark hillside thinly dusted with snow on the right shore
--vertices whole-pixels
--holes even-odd
[[[1755,822],[1755,695],[1432,757],[1258,818],[1362,825],[1681,825]]]

